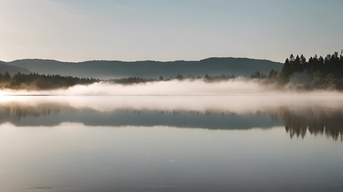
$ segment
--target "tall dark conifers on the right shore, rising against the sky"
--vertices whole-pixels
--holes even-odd
[[[316,54],[308,60],[303,54],[293,54],[286,58],[282,70],[271,70],[268,74],[256,71],[250,78],[271,79],[280,83],[294,82],[302,84],[303,88],[327,88],[334,87],[343,89],[343,50],[338,55],[334,52],[325,57]]]

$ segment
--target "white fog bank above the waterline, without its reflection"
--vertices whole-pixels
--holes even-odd
[[[96,82],[75,85],[67,89],[14,90],[3,89],[2,95],[232,95],[232,94],[340,94],[335,90],[292,89],[289,84],[280,87],[258,79],[238,77],[225,81],[169,80],[134,84]]]

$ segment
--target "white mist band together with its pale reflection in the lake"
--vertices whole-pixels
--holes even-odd
[[[238,113],[283,106],[343,107],[343,94],[338,91],[299,91],[277,87],[279,87],[278,84],[241,77],[214,82],[203,79],[134,84],[114,84],[102,81],[89,85],[76,85],[67,89],[40,91],[6,89],[1,91],[0,104],[18,103],[37,106],[42,103],[56,103],[99,111],[122,109]]]

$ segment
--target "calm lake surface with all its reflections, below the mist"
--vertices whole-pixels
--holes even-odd
[[[339,94],[1,98],[0,191],[343,191]]]

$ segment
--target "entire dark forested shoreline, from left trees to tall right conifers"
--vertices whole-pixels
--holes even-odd
[[[94,82],[109,82],[117,84],[145,83],[153,81],[168,80],[195,80],[202,79],[205,82],[223,81],[235,79],[233,74],[229,75],[209,75],[205,76],[183,76],[178,74],[164,78],[142,78],[130,76],[125,78],[113,78],[100,80],[96,78],[61,76],[59,74],[24,74],[18,72],[11,76],[8,71],[0,73],[0,87],[11,89],[55,89],[67,88],[76,84],[91,84]],[[306,60],[303,54],[294,56],[291,54],[283,63],[281,71],[271,69],[268,74],[256,71],[250,75],[251,79],[258,79],[261,83],[276,83],[277,88],[292,89],[327,89],[335,88],[343,90],[343,50],[338,55],[334,52],[325,57],[316,54]]]

